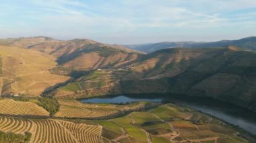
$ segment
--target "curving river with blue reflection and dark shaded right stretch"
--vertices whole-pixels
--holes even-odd
[[[131,103],[133,101],[154,101],[175,103],[209,113],[229,124],[239,126],[256,135],[256,113],[222,101],[205,97],[177,97],[173,95],[119,95],[82,99],[86,103]]]

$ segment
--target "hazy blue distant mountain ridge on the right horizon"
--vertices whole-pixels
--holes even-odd
[[[213,48],[226,46],[237,46],[243,50],[256,51],[256,37],[243,38],[240,40],[222,40],[218,42],[160,42],[126,46],[146,53],[151,53],[164,48]]]

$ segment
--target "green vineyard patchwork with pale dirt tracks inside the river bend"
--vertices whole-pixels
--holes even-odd
[[[247,142],[220,120],[172,104],[94,123],[103,127],[106,142]]]

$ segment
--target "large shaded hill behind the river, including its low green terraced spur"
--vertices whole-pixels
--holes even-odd
[[[207,96],[256,109],[256,54],[228,48],[170,48],[119,70],[95,70],[53,92],[57,97],[123,93]]]

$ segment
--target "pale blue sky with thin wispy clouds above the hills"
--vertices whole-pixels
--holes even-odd
[[[0,38],[142,44],[256,36],[255,0],[3,0],[0,18]]]

